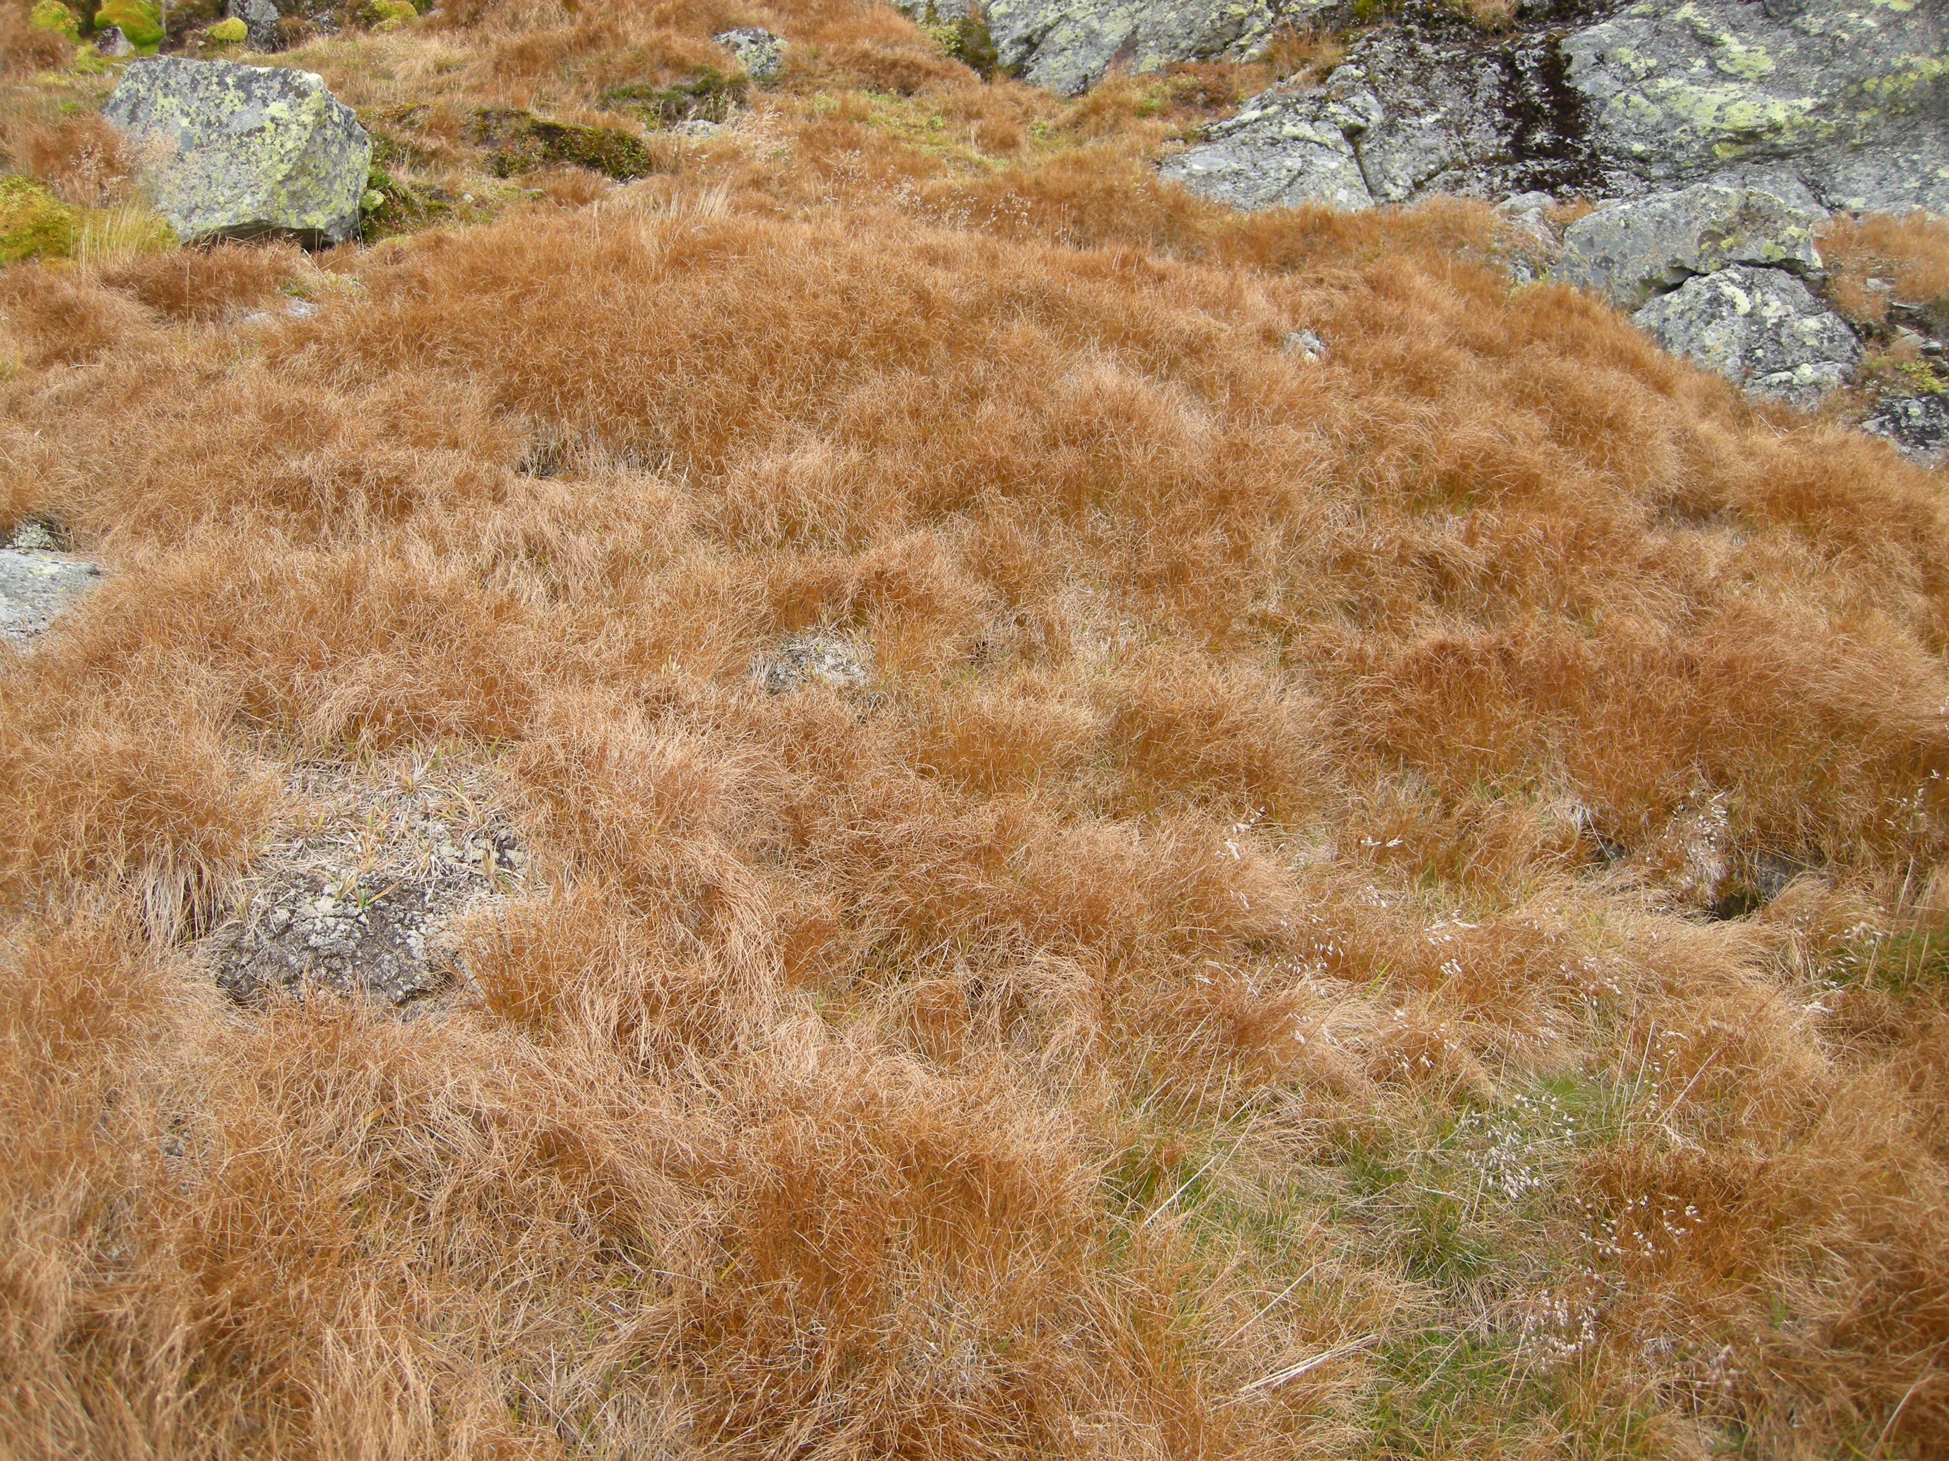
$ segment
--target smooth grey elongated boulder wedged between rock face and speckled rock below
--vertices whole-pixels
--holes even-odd
[[[1822,220],[1760,189],[1694,183],[1579,218],[1563,230],[1563,259],[1551,277],[1637,310],[1729,263],[1813,273],[1820,269],[1815,228]]]

